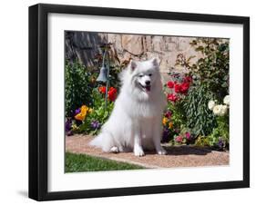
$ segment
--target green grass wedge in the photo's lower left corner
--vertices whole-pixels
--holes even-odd
[[[66,152],[65,172],[138,170],[144,167],[92,157],[87,154]]]

